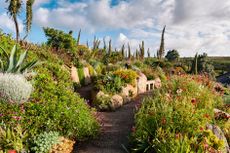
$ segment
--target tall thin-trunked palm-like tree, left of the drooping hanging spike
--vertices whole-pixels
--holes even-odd
[[[18,42],[20,35],[17,16],[19,15],[20,10],[22,8],[22,0],[6,0],[6,2],[9,3],[7,11],[14,21],[16,30],[16,41]]]

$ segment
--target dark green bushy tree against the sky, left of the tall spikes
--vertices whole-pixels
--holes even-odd
[[[69,33],[65,33],[61,30],[53,28],[43,28],[46,37],[48,37],[47,44],[55,48],[56,50],[65,49],[71,55],[75,55],[76,52],[76,40]]]

